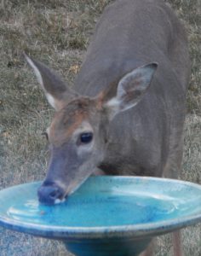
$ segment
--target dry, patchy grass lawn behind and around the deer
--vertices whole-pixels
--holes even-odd
[[[0,189],[42,179],[48,150],[42,132],[53,111],[21,58],[26,51],[54,67],[69,84],[82,62],[97,17],[109,0],[11,0],[0,2]],[[181,178],[201,183],[201,2],[168,1],[187,26],[192,73]],[[190,235],[189,235],[190,234]],[[183,231],[185,255],[201,255],[201,227]],[[169,236],[158,256],[171,255]],[[0,228],[1,256],[65,255],[58,241]]]

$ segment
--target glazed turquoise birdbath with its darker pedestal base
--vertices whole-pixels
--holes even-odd
[[[135,256],[153,236],[201,221],[201,186],[155,177],[89,177],[67,200],[37,201],[40,182],[0,191],[0,225],[62,240],[78,256]]]

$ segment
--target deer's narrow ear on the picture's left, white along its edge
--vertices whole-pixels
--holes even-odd
[[[50,70],[49,67],[39,61],[33,60],[26,54],[24,55],[28,64],[32,67],[49,104],[55,108],[55,110],[60,110],[66,102],[78,96],[78,94],[70,90],[60,77]]]

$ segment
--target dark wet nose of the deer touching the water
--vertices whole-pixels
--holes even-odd
[[[37,196],[39,202],[47,205],[54,205],[55,203],[60,203],[62,201],[64,191],[56,184],[42,184],[42,186],[37,190]]]

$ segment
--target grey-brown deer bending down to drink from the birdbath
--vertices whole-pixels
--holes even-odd
[[[26,61],[55,108],[41,203],[64,201],[91,175],[179,177],[189,56],[185,28],[164,1],[107,6],[73,88]],[[174,250],[182,255],[178,232]]]

